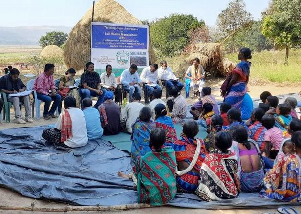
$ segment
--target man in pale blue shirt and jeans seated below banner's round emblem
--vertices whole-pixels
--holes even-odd
[[[132,64],[130,68],[125,69],[120,76],[120,83],[124,85],[126,91],[129,91],[129,102],[132,102],[134,92],[141,94],[142,83],[137,70],[137,65]]]

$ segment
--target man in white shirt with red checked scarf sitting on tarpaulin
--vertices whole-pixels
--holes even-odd
[[[82,147],[88,142],[85,115],[76,107],[74,97],[64,99],[64,111],[60,114],[54,128],[46,128],[42,137],[57,146]]]

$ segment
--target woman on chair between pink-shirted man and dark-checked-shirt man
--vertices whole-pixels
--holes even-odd
[[[67,96],[74,97],[76,100],[76,107],[80,108],[81,106],[81,98],[78,93],[77,87],[69,89],[69,86],[73,86],[75,84],[74,76],[76,71],[73,68],[70,68],[66,71],[66,75],[61,77],[60,85],[59,85],[59,93],[64,98]]]

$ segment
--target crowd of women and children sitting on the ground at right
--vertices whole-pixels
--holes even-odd
[[[157,101],[154,121],[152,105],[141,108],[133,124],[133,172],[118,173],[139,184],[140,203],[168,203],[174,197],[175,186],[177,192],[195,193],[205,201],[236,198],[244,191],[301,202],[301,173],[297,170],[301,168],[301,120],[295,112],[295,98],[278,104],[278,98],[269,94],[247,121],[228,103],[222,103],[217,111],[213,108],[214,98],[200,99],[198,107],[191,110],[194,120],[182,120],[183,131],[177,138],[174,124],[178,120],[172,113],[174,107],[179,109],[176,112],[183,109],[181,101],[175,103],[181,95],[173,90],[178,92],[176,87],[171,88],[174,96],[167,105]],[[210,91],[203,87],[203,97],[210,96]],[[173,109],[168,112],[167,107]],[[199,124],[207,128],[208,135],[203,140],[196,138]],[[161,136],[163,132],[165,135]],[[154,139],[160,142],[159,150],[154,147]],[[163,151],[171,153],[163,158]],[[172,157],[175,163],[166,159]],[[165,168],[168,170],[162,170]],[[154,182],[145,183],[148,176],[153,176]],[[162,177],[169,179],[162,183]],[[162,194],[163,190],[168,197]]]

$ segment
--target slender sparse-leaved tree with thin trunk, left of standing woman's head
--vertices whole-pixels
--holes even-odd
[[[251,13],[246,10],[246,4],[243,0],[234,0],[228,4],[225,10],[218,14],[217,25],[225,36],[231,34],[237,29],[246,28],[253,21]],[[230,48],[236,52],[235,34],[230,38]]]

